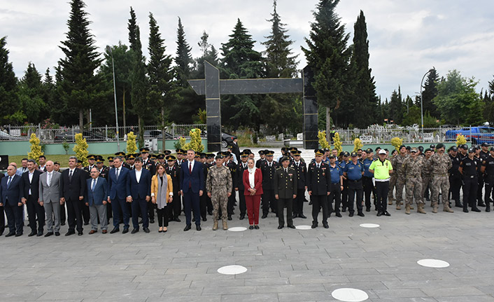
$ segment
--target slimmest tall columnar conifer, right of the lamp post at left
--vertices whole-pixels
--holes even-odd
[[[139,148],[143,148],[144,119],[150,115],[147,98],[148,78],[146,78],[146,58],[142,55],[141,32],[136,22],[136,13],[132,7],[130,8],[128,29],[130,49],[132,50],[132,72],[130,74],[132,90],[130,92],[130,100],[138,118]]]

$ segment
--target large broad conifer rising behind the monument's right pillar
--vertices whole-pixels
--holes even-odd
[[[351,55],[347,48],[348,34],[337,13],[339,0],[320,0],[311,23],[308,48],[302,48],[307,64],[314,73],[313,88],[320,106],[326,107],[326,134],[329,135],[330,113],[342,106],[346,98],[346,71]],[[343,107],[342,107],[343,108]],[[336,121],[338,123],[338,121]],[[328,140],[330,138],[328,137]]]

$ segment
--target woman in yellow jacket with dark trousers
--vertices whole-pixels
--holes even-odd
[[[157,205],[158,232],[168,231],[168,211],[167,204],[171,203],[174,196],[174,187],[171,177],[164,169],[164,165],[159,163],[156,166],[156,174],[151,179],[151,201]]]

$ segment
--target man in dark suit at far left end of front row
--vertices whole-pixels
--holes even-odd
[[[22,235],[22,202],[20,200],[22,196],[22,179],[19,175],[15,174],[17,168],[14,165],[8,165],[7,176],[1,179],[0,184],[0,207],[5,208],[5,214],[7,215],[8,234],[6,237],[15,235],[19,237]]]

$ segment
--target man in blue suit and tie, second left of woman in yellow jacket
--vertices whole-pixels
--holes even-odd
[[[124,229],[122,233],[129,232],[129,207],[130,188],[128,186],[129,169],[122,167],[121,156],[113,158],[113,169],[108,172],[108,203],[113,210],[113,230],[110,233],[120,232],[120,213],[123,216]]]

